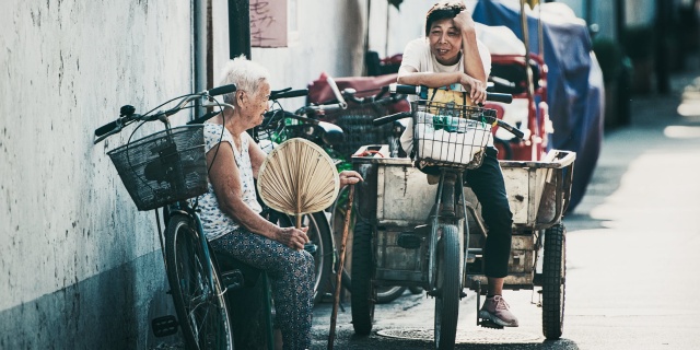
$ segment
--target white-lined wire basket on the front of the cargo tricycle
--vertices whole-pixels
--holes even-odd
[[[481,165],[495,110],[419,100],[411,102],[411,116],[413,161],[459,168]]]

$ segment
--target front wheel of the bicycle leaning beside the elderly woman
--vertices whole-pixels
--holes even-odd
[[[195,223],[173,215],[165,237],[167,280],[187,349],[234,349],[219,271],[211,255],[206,256]]]

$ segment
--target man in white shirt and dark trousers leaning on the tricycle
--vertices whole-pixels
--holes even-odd
[[[469,92],[474,103],[483,103],[490,70],[489,51],[477,39],[475,23],[464,2],[441,1],[428,11],[425,37],[406,46],[398,83],[428,88],[458,84]],[[479,316],[501,326],[517,327],[517,318],[502,298],[511,254],[513,214],[498,151],[492,144],[489,142],[481,166],[465,173],[465,179],[482,206],[481,213],[489,229],[483,253],[488,295]]]

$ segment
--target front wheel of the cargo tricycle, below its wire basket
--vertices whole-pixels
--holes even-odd
[[[435,295],[435,349],[454,349],[462,292],[462,249],[457,226],[441,224],[438,243],[438,279]]]

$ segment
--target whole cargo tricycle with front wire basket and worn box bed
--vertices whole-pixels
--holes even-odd
[[[396,90],[419,95],[425,91],[400,85]],[[432,102],[423,95],[411,109],[375,122],[412,118],[417,150],[412,159],[388,156],[387,144],[365,145],[372,152],[352,159],[365,178],[355,195],[352,324],[355,334],[371,331],[378,285],[420,287],[435,299],[435,348],[453,349],[464,289],[486,293],[482,252],[488,231],[475,195],[464,186],[463,172],[480,165],[491,125],[518,137],[523,133],[488,108]],[[421,129],[434,131],[421,133]],[[444,131],[446,139],[438,137],[438,131]],[[512,250],[517,253],[511,255],[504,288],[542,287],[542,331],[548,339],[559,338],[563,326],[565,229],[561,218],[570,198],[574,159],[572,152],[551,151],[542,161],[501,162],[514,212]],[[438,184],[425,182],[425,175],[413,167],[417,161],[440,167]],[[478,298],[477,310],[480,302]],[[485,319],[477,323],[499,327]]]

